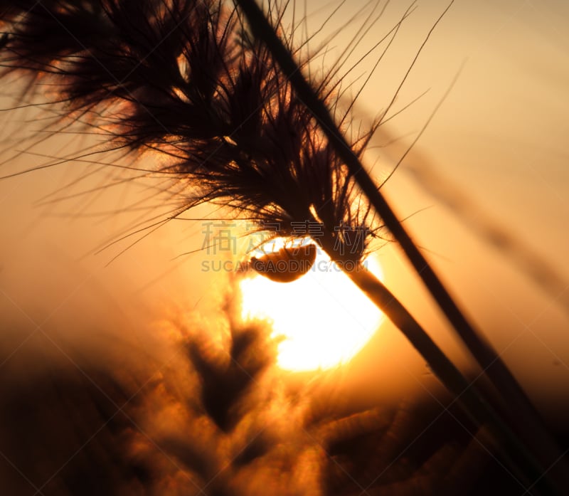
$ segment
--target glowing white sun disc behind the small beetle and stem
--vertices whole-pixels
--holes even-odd
[[[382,277],[373,256],[371,272]],[[348,362],[378,329],[383,314],[348,276],[318,250],[316,262],[292,283],[252,275],[240,283],[244,319],[260,317],[282,337],[277,362],[282,369],[328,369]]]

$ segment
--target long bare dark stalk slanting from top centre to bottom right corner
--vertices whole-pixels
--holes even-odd
[[[561,466],[565,465],[563,463],[563,455],[555,445],[550,433],[543,426],[540,416],[531,404],[531,401],[528,400],[526,394],[524,394],[521,386],[489,343],[479,336],[479,333],[470,324],[464,316],[464,312],[459,309],[450,293],[437,277],[435,271],[422,253],[420,253],[418,247],[415,246],[403,225],[398,221],[398,217],[367,174],[358,157],[356,157],[356,154],[353,153],[351,147],[346,142],[346,139],[344,139],[326,105],[319,99],[317,93],[304,78],[297,63],[294,62],[292,54],[285,48],[260,7],[257,6],[254,0],[237,0],[237,4],[247,17],[254,36],[262,40],[267,48],[270,49],[283,73],[289,78],[297,96],[304,102],[304,105],[307,105],[319,122],[326,137],[334,145],[339,157],[345,162],[350,174],[356,179],[363,193],[381,216],[385,226],[393,233],[393,236],[400,244],[418,275],[420,275],[420,278],[422,278],[423,283],[425,283],[442,312],[444,312],[459,337],[467,345],[472,356],[482,366],[484,373],[489,376],[489,379],[499,390],[504,401],[509,404],[511,411],[514,412],[509,421],[516,426],[519,433],[524,433],[523,437],[531,446],[531,450],[542,460],[542,463],[548,463],[548,460],[551,460],[551,462],[557,460],[558,465],[553,466],[546,477],[550,477],[551,480],[555,479],[556,484],[560,488],[569,488],[569,470],[564,470]],[[425,357],[425,359],[427,359],[427,362],[431,362],[429,357]],[[452,383],[450,378],[440,376],[440,379],[447,387],[450,387],[450,384],[447,384],[448,382]],[[451,387],[450,389],[452,390]]]

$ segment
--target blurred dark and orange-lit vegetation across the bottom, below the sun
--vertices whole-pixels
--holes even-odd
[[[339,388],[334,374],[287,386],[266,324],[241,323],[236,307],[228,296],[212,322],[228,329],[223,347],[212,346],[208,327],[170,322],[166,357],[116,340],[119,364],[82,358],[82,349],[75,363],[41,349],[17,354],[0,379],[5,492],[516,494],[456,422],[472,427],[457,408],[409,399],[376,406]]]

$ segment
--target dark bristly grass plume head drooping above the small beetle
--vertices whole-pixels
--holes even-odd
[[[353,263],[381,228],[270,51],[224,2],[16,1],[1,19],[4,75],[26,77],[23,95],[48,88],[65,119],[89,122],[112,148],[168,156],[159,172],[188,185],[180,212],[209,201],[289,237],[318,223]],[[331,80],[314,85],[339,109]],[[357,154],[372,132],[354,140]]]

